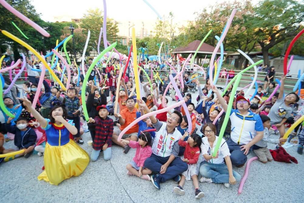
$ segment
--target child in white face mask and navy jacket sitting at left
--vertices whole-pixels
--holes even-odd
[[[16,121],[16,126],[14,124],[11,125],[12,119],[13,118],[11,117],[8,118],[7,122],[5,123],[5,129],[10,133],[15,134],[14,144],[16,148],[7,149],[6,153],[18,151],[21,149],[25,151],[21,154],[5,157],[4,161],[13,160],[23,155],[25,158],[28,158],[34,150],[35,142],[37,139],[36,132],[32,128],[27,127],[28,120],[26,118],[19,117]]]

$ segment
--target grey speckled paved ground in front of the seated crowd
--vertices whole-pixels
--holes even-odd
[[[197,94],[192,95],[195,100]],[[85,143],[81,147],[91,154],[92,147],[87,145],[90,133],[82,137]],[[4,145],[5,148],[11,146],[13,141]],[[275,145],[269,144],[268,148],[275,149]],[[20,157],[0,164],[0,202],[303,202],[304,176],[301,171],[304,156],[296,153],[296,149],[293,146],[286,151],[299,161],[298,164],[253,161],[240,195],[239,183],[230,185],[230,188],[223,184],[199,183],[200,190],[205,193],[201,200],[194,197],[192,181],[186,181],[185,195],[177,196],[173,192],[176,185],[173,181],[161,184],[158,191],[151,181],[126,175],[126,165],[135,155],[135,149],[124,154],[123,148],[113,146],[111,160],[103,160],[101,153],[96,162],[90,161],[83,174],[58,186],[37,180],[42,172],[43,157],[33,154],[28,159]],[[251,153],[248,158],[253,156]],[[243,176],[245,167],[233,167],[233,170]]]

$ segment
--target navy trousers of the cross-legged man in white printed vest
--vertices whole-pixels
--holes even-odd
[[[170,157],[170,156],[169,156]],[[169,157],[159,157],[152,154],[150,158],[145,160],[145,167],[152,170],[153,172],[159,173],[161,171],[161,166],[165,164]],[[175,176],[182,174],[188,169],[188,164],[181,160],[181,157],[175,157],[175,159],[168,166],[166,173],[159,174],[161,178],[161,183],[174,178]]]

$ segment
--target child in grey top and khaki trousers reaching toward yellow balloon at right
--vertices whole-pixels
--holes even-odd
[[[279,144],[281,146],[287,139],[271,139],[269,138],[269,128],[270,128],[270,118],[267,115],[260,115],[261,120],[263,122],[264,127],[264,136],[263,138],[255,143],[253,146],[253,151],[259,158],[259,160],[263,163],[267,163],[267,161],[272,161],[272,156],[270,151],[267,148],[267,143]]]

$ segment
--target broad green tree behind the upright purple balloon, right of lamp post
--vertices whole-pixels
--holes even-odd
[[[103,16],[102,11],[99,9],[89,9],[87,13],[81,19],[80,27],[91,32],[90,42],[88,44],[88,51],[97,50],[98,37],[100,33],[100,28],[102,27]],[[107,40],[109,42],[114,42],[117,39],[117,33],[119,32],[118,26],[113,19],[107,18]],[[100,47],[104,47],[103,38],[101,38]]]

